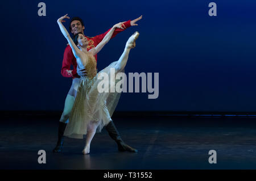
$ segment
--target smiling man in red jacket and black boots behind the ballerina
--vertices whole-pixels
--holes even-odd
[[[115,35],[117,35],[119,32],[125,30],[126,28],[129,28],[130,26],[138,26],[138,24],[136,24],[136,22],[140,19],[142,19],[142,16],[139,16],[139,18],[134,19],[132,21],[129,20],[127,22],[122,22],[122,29],[121,28],[115,29],[111,38],[115,37]],[[69,30],[71,31],[71,33],[73,35],[76,35],[77,33],[80,33],[80,32],[84,35],[84,29],[85,29],[84,23],[82,22],[81,18],[74,17],[71,19]],[[96,47],[97,44],[99,44],[101,42],[101,40],[104,39],[104,36],[110,31],[110,29],[108,31],[106,31],[105,33],[95,36],[95,37],[88,37],[88,36],[84,35],[89,41],[87,50],[90,50],[90,49]],[[95,58],[97,61],[97,54],[96,54]],[[73,65],[73,70],[71,70],[71,65]],[[77,87],[79,85],[80,76],[77,73],[80,75],[86,75],[86,70],[77,70],[76,58],[72,53],[71,47],[68,45],[65,48],[65,52],[64,52],[63,66],[61,68],[61,74],[63,75],[63,77],[72,77],[73,81],[72,81],[71,89],[69,90],[67,98],[65,99],[64,111],[63,111],[60,121],[59,121],[58,141],[57,141],[56,147],[53,149],[53,153],[60,153],[61,150],[63,149],[63,142],[64,142],[63,134],[65,131],[65,127],[68,123],[69,114],[71,113],[73,104],[75,103],[76,91],[77,91]],[[115,128],[113,121],[110,121],[110,123],[106,126],[106,130],[108,131],[110,137],[115,142],[117,142],[119,151],[130,151],[130,152],[138,151],[137,149],[131,148],[131,146],[129,146],[129,145],[125,144],[125,142],[123,142],[120,134],[117,131],[117,128]]]

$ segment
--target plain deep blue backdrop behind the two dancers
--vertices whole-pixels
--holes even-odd
[[[38,16],[38,3],[46,16]],[[217,4],[209,16],[208,4]],[[85,35],[143,15],[98,53],[98,69],[118,60],[128,37],[141,35],[126,73],[159,73],[159,97],[123,93],[117,111],[256,110],[256,2],[5,1],[1,2],[1,111],[60,111],[71,78],[60,74],[67,44],[56,20],[80,16]],[[64,23],[68,28],[69,21]]]

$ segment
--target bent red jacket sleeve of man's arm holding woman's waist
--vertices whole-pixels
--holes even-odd
[[[73,75],[76,74],[76,72],[73,72],[73,70],[71,70],[72,60],[73,60],[73,52],[71,47],[68,45],[64,51],[62,68],[61,68],[61,75],[63,77],[73,77]]]

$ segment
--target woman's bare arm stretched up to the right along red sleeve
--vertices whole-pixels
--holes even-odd
[[[104,39],[95,47],[95,48],[92,48],[89,50],[89,52],[91,52],[93,55],[97,54],[98,52],[100,52],[100,50],[104,47],[105,44],[107,44],[109,42],[109,40],[111,39],[114,31],[115,31],[115,28],[122,28],[122,24],[124,22],[121,22],[121,23],[117,23],[115,24],[111,30],[106,34],[106,36],[104,37]]]

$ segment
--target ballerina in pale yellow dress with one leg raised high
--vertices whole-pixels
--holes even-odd
[[[88,154],[90,152],[90,142],[94,134],[96,131],[101,132],[101,129],[112,121],[111,116],[119,100],[118,92],[110,92],[110,89],[104,92],[98,91],[98,83],[102,82],[98,77],[104,77],[105,74],[110,77],[110,69],[113,68],[115,69],[115,75],[123,71],[130,49],[135,47],[135,40],[137,40],[139,33],[135,32],[129,38],[125,50],[118,61],[112,62],[108,67],[97,73],[97,63],[94,55],[100,52],[104,45],[108,43],[115,28],[122,28],[122,23],[115,24],[97,47],[87,51],[88,40],[80,33],[72,40],[68,31],[61,23],[65,22],[63,20],[65,18],[69,19],[67,14],[59,18],[57,23],[72,48],[72,52],[76,57],[77,66],[79,69],[86,69],[87,75],[86,77],[81,76],[75,104],[69,117],[69,123],[65,129],[64,136],[83,138],[86,134],[86,144],[82,153]],[[109,84],[113,86],[113,84]]]

